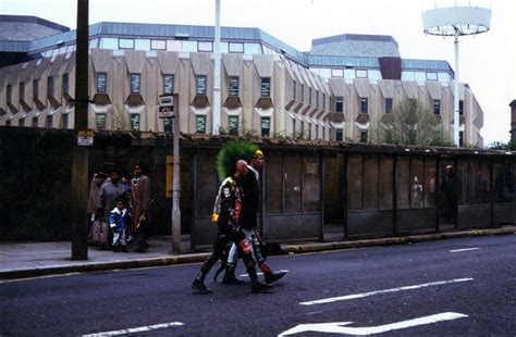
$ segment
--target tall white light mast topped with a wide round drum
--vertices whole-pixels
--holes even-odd
[[[458,37],[486,33],[491,24],[491,9],[482,8],[486,0],[431,0],[422,12],[426,34],[453,36],[455,45],[453,140],[459,147],[459,97],[458,97]]]

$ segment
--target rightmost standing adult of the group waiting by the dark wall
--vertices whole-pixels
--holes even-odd
[[[143,162],[134,165],[134,178],[131,180],[130,204],[134,214],[134,236],[136,252],[146,252],[149,249],[147,238],[150,230],[150,205],[152,203],[151,180],[147,175],[147,166]]]

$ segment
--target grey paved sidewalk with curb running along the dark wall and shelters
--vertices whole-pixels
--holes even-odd
[[[288,244],[281,245],[281,251],[282,253],[296,254],[370,246],[403,245],[447,238],[514,234],[516,234],[516,226],[504,226],[492,229],[471,229],[365,240]],[[37,244],[0,242],[0,280],[54,274],[198,263],[209,255],[209,252],[173,254],[171,253],[172,239],[170,237],[155,237],[149,240],[149,244],[150,249],[146,253],[133,252],[134,246],[130,246],[128,253],[115,253],[89,247],[87,261],[72,261],[72,244],[69,241]]]

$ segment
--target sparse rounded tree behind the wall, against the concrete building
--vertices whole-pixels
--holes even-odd
[[[371,123],[370,142],[417,146],[453,146],[432,110],[416,100],[402,100]]]

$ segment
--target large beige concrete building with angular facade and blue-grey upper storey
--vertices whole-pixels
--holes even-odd
[[[41,22],[0,15],[16,20]],[[0,42],[3,55],[25,39],[25,59],[0,68],[0,125],[73,128],[75,32],[56,25],[45,35]],[[159,96],[177,93],[181,130],[210,134],[213,36],[211,26],[90,25],[89,127],[171,132]],[[309,52],[258,28],[222,27],[221,39],[221,133],[367,141],[370,123],[404,99],[428,104],[452,132],[453,70],[402,59],[391,36],[324,37]],[[482,146],[483,112],[467,84],[458,95],[463,142]]]

